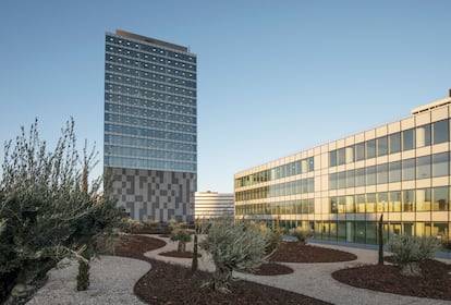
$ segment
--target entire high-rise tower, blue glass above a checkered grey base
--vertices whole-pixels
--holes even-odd
[[[193,221],[196,66],[186,47],[106,34],[103,164],[110,194],[136,220]]]

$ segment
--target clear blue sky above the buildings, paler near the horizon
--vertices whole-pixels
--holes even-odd
[[[447,97],[450,12],[448,0],[1,0],[0,141],[37,117],[54,142],[73,117],[101,159],[103,40],[120,28],[197,54],[198,191],[233,192],[239,171]]]

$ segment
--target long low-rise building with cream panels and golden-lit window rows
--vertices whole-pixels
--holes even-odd
[[[234,175],[235,217],[310,228],[315,239],[377,243],[391,234],[450,237],[449,98],[404,120]]]

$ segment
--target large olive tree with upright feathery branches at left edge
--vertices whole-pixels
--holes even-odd
[[[39,138],[36,120],[29,134],[22,127],[15,142],[4,145],[0,180],[0,303],[25,302],[34,283],[63,257],[84,264],[85,274],[81,279],[86,281],[97,241],[112,236],[123,223],[115,203],[99,193],[101,178],[88,185],[96,155],[88,154],[85,145],[84,158],[80,157],[74,121],[68,121],[61,132],[54,150],[49,151]],[[88,278],[81,288],[87,285]]]

